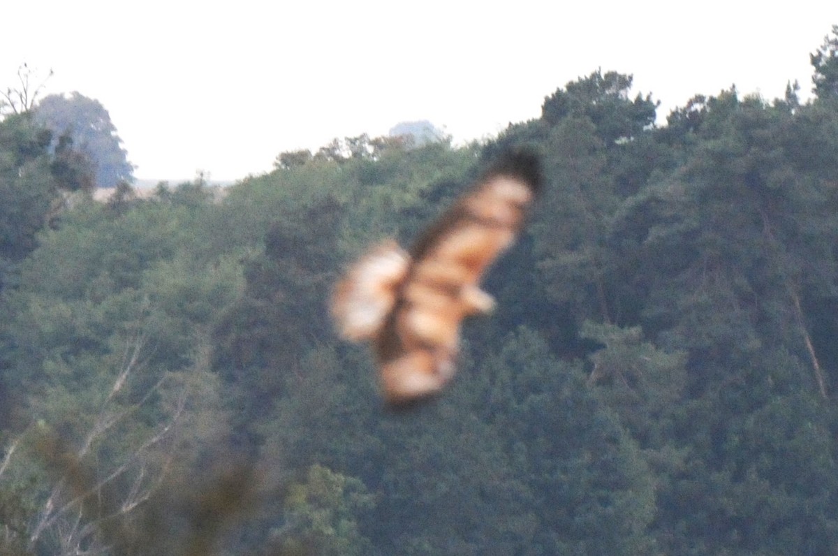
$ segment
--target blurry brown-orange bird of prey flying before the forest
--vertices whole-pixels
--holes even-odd
[[[541,181],[534,153],[503,153],[410,251],[383,242],[339,280],[335,324],[372,344],[388,403],[427,397],[453,377],[461,322],[494,309],[480,278],[515,241]]]

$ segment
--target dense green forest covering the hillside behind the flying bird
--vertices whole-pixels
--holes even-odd
[[[593,71],[481,143],[215,190],[0,121],[0,553],[833,556],[838,26],[800,101]],[[328,298],[510,147],[546,174],[458,374],[395,413]]]

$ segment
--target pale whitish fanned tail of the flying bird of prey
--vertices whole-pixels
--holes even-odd
[[[339,334],[353,341],[375,336],[396,304],[409,266],[407,252],[388,241],[349,268],[332,296],[332,316]]]

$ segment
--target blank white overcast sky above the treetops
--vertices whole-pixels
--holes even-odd
[[[101,101],[137,178],[173,180],[261,174],[402,121],[483,138],[597,68],[633,74],[663,116],[733,84],[808,96],[809,55],[838,23],[838,0],[4,4],[0,86],[23,62],[54,70],[46,94]]]

